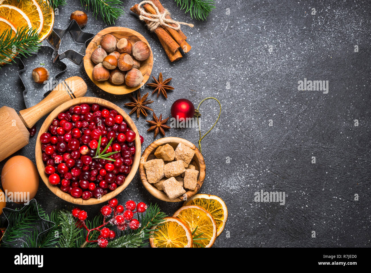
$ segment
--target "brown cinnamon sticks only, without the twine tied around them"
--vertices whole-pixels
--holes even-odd
[[[150,0],[158,9],[160,13],[165,12],[165,8],[162,6],[159,0]],[[143,9],[150,14],[156,14],[156,10],[150,4],[145,3],[143,5]],[[138,16],[141,15],[141,11],[139,10],[138,4],[135,4],[130,8],[132,12],[137,14]],[[144,15],[147,16],[147,15]],[[150,16],[147,16],[150,18]],[[167,19],[171,19],[170,15],[165,16]],[[150,25],[151,22],[149,20],[144,20],[147,25]],[[171,26],[176,27],[175,24],[171,23]],[[187,36],[181,30],[175,30],[171,27],[167,26],[158,26],[154,32],[157,35],[157,38],[160,40],[162,47],[165,50],[166,55],[168,56],[170,62],[177,61],[178,59],[182,58],[179,48],[183,50],[184,53],[190,51],[191,46],[185,41]]]

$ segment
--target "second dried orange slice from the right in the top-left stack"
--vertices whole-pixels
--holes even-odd
[[[11,5],[22,10],[31,21],[33,29],[41,32],[44,24],[44,16],[36,0],[0,0],[0,4]]]

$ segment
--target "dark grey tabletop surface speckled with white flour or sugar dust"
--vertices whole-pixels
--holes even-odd
[[[174,1],[162,2],[174,19],[195,24],[193,29],[183,27],[192,49],[178,62],[168,61],[157,38],[129,12],[134,1],[125,1],[126,13],[115,25],[132,28],[148,40],[154,53],[151,75],[162,72],[173,78],[175,90],[167,100],[149,96],[155,101],[151,104],[155,113],[170,116],[178,98],[188,98],[196,107],[206,97],[221,102],[220,120],[202,142],[207,172],[200,193],[220,196],[229,211],[214,246],[370,246],[371,2],[217,1],[206,22],[191,20]],[[68,0],[54,26],[67,27],[70,13],[79,9],[80,1]],[[97,33],[108,27],[99,16],[95,20],[91,12],[87,14],[84,31]],[[359,52],[354,52],[355,45]],[[83,65],[65,62],[68,71],[63,78],[80,76],[88,84],[86,95],[127,110],[128,95],[99,90]],[[0,100],[1,105],[21,110],[17,70],[17,65],[1,69]],[[304,78],[329,81],[328,94],[298,91],[298,81]],[[202,105],[203,129],[216,119],[217,107],[212,100]],[[145,118],[132,118],[144,136],[143,150],[153,134],[146,132]],[[171,129],[167,136],[198,141],[195,129]],[[35,137],[16,155],[35,162],[34,147]],[[284,191],[285,205],[254,202],[254,193],[261,189]],[[354,201],[355,194],[359,201]],[[157,202],[169,215],[181,206],[155,199],[138,173],[118,198]],[[68,205],[42,181],[36,199],[47,211]],[[100,207],[84,209],[92,215]]]

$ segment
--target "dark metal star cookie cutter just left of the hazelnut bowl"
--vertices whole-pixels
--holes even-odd
[[[85,49],[88,46],[90,40],[93,39],[95,35],[92,33],[83,32],[78,23],[75,20],[72,20],[69,23],[67,29],[53,28],[50,35],[46,38],[49,44],[54,48],[54,52],[52,55],[53,62],[67,58],[76,65],[80,65],[85,56],[85,53],[82,55],[81,53],[76,52],[73,49],[68,49],[65,52],[59,53],[60,43],[63,39],[63,36],[65,36],[68,32],[70,33],[72,39],[75,40],[75,42],[85,44]]]

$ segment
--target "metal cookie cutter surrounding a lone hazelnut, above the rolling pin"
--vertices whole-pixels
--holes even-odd
[[[49,94],[50,90],[53,89],[53,84],[58,81],[58,77],[66,71],[67,65],[65,63],[61,61],[54,62],[50,58],[53,50],[51,46],[43,45],[40,46],[39,51],[32,53],[28,58],[20,59],[18,75],[24,87],[23,99],[27,108],[39,103]],[[33,81],[32,70],[40,66],[45,67],[50,73],[48,85],[37,84]]]

